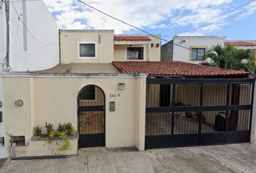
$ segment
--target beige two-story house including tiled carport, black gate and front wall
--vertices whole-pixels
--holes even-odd
[[[249,125],[255,79],[243,71],[163,62],[159,37],[60,30],[58,65],[5,72],[8,156],[69,155],[92,146],[143,151],[255,141],[255,122]],[[227,128],[229,114],[234,120]],[[65,151],[58,149],[64,145],[60,138],[46,143],[46,135],[36,136],[35,127],[46,134],[46,123],[57,130],[68,122],[77,134],[67,136]]]

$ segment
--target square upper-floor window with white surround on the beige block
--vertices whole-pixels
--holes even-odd
[[[94,43],[80,43],[79,45],[80,57],[95,57]]]

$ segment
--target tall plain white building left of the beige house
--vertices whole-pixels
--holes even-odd
[[[59,26],[46,4],[43,1],[7,1],[6,4],[9,4],[9,68],[4,61],[7,56],[6,5],[0,0],[0,61],[1,65],[4,63],[1,71],[39,71],[56,66],[59,63]],[[3,136],[4,113],[0,138]],[[0,158],[4,157],[6,150],[0,144]]]

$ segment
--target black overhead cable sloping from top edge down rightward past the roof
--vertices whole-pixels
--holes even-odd
[[[77,1],[80,1],[80,0],[77,0]],[[255,0],[255,1],[256,1],[256,0]],[[167,43],[169,42],[168,40],[163,39],[163,38],[161,38],[161,37],[157,37],[157,36],[151,34],[151,33],[148,32],[148,31],[145,31],[145,30],[140,29],[139,27],[136,27],[135,25],[131,25],[131,24],[127,23],[127,22],[124,22],[124,21],[121,20],[121,19],[117,19],[116,17],[113,17],[113,16],[111,16],[110,14],[107,14],[106,12],[102,12],[100,9],[96,9],[95,7],[90,6],[89,4],[87,4],[87,3],[83,2],[83,1],[80,1],[80,2],[81,2],[82,4],[85,4],[86,6],[89,6],[89,7],[92,8],[92,9],[95,9],[97,12],[100,12],[101,14],[104,14],[104,15],[106,15],[106,16],[108,16],[108,17],[111,17],[112,19],[115,19],[115,20],[117,20],[117,21],[119,21],[119,22],[121,22],[121,23],[124,23],[125,25],[128,25],[128,26],[130,26],[130,27],[134,27],[135,29],[140,30],[141,32],[145,32],[145,33],[147,33],[148,35],[151,35],[151,36],[153,36],[153,37],[155,37],[155,38],[157,38],[157,39],[159,39],[159,40],[163,40],[163,41],[165,41],[165,42],[167,42]],[[174,43],[174,45],[177,45],[177,46],[179,46],[179,47],[181,47],[181,48],[186,48],[187,50],[192,50],[192,49],[190,49],[190,48],[187,48],[187,47],[185,47],[185,46],[183,46],[183,45],[179,45],[179,44],[176,44],[176,43]],[[195,51],[195,50],[192,50],[192,51]],[[201,53],[201,54],[205,55],[205,53]]]

